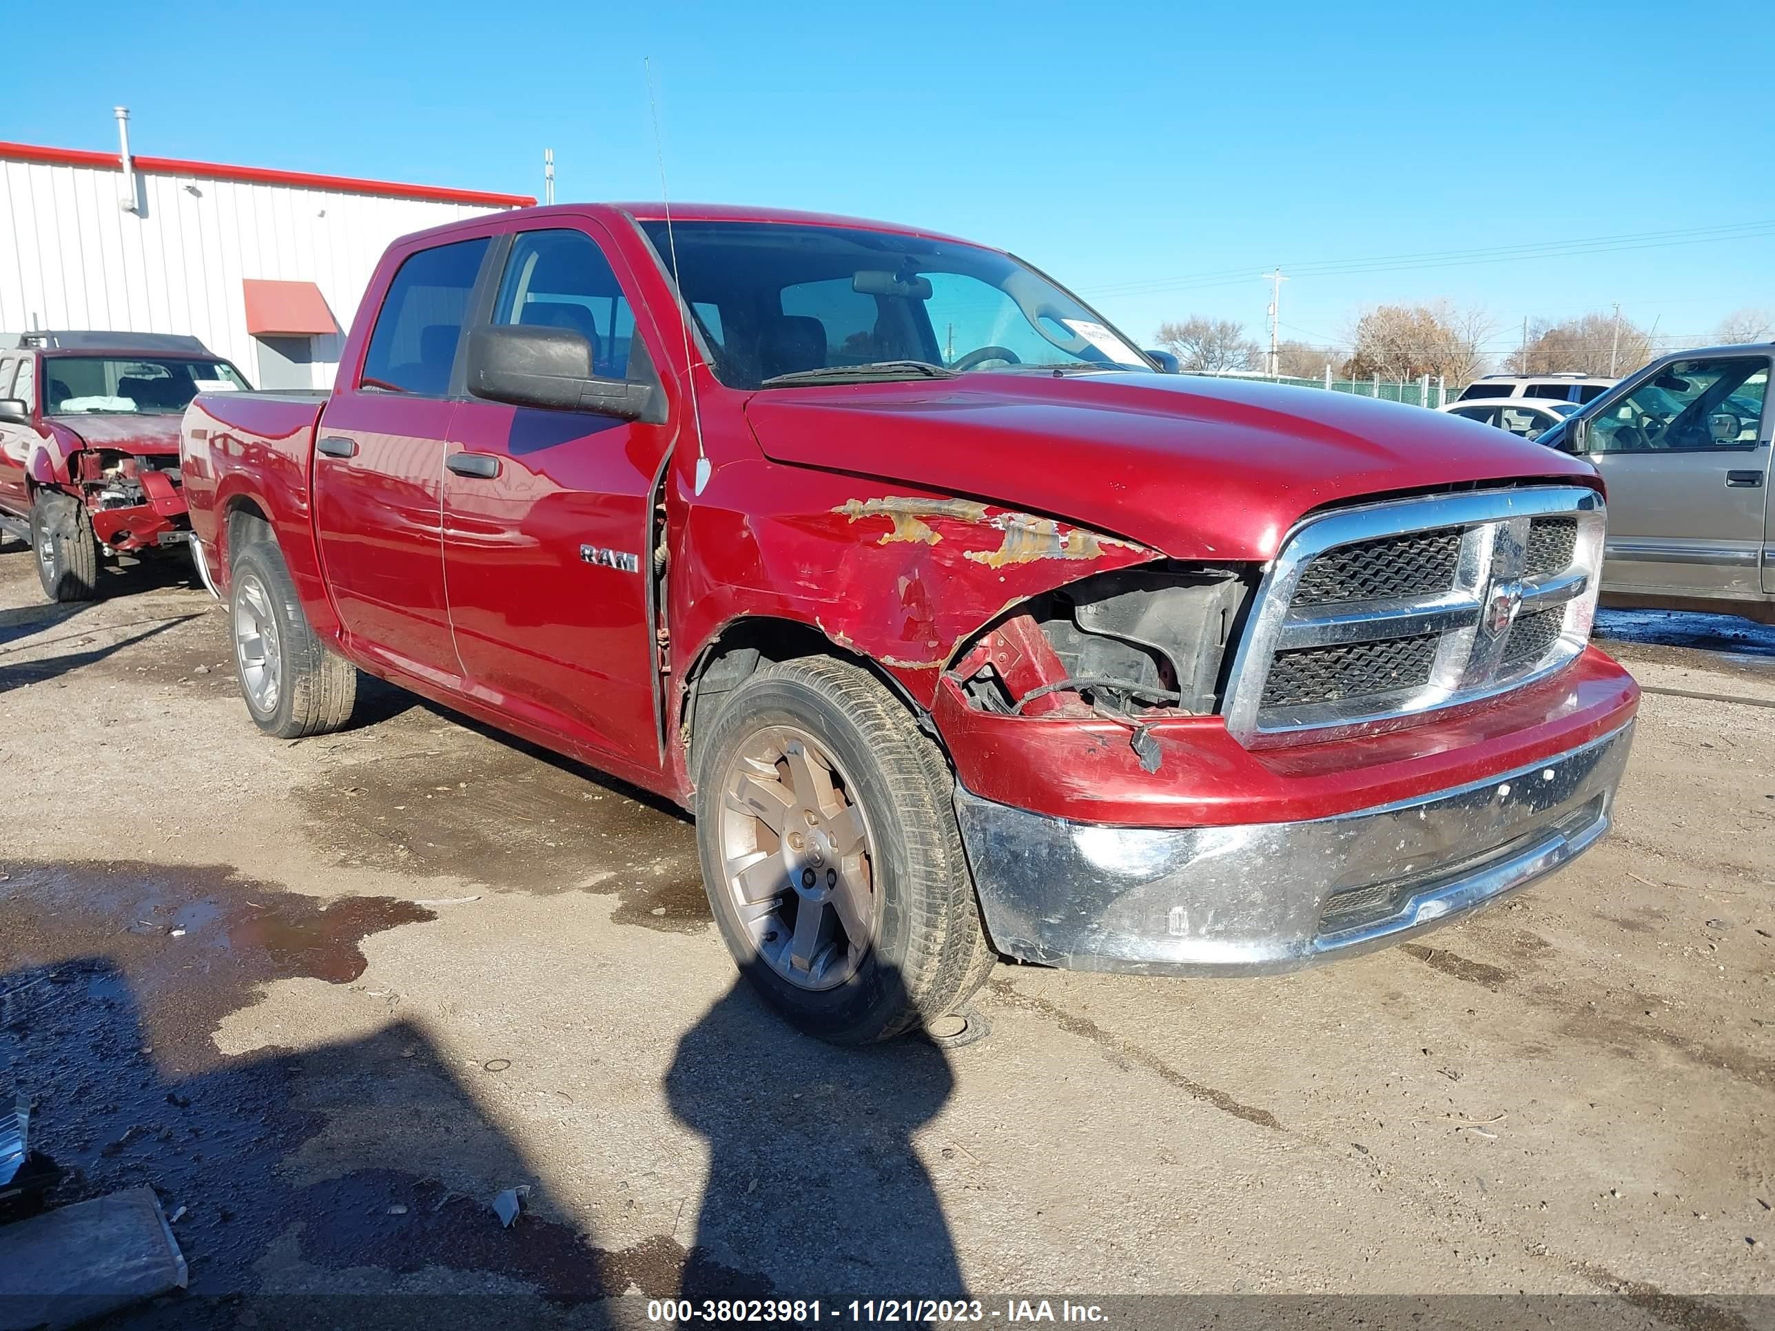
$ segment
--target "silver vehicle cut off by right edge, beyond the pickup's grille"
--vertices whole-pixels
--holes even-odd
[[[1605,605],[1775,623],[1771,357],[1775,344],[1677,351],[1541,435],[1608,484]]]

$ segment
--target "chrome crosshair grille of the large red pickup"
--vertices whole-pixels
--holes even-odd
[[[1576,486],[1369,504],[1301,524],[1227,689],[1246,744],[1384,728],[1537,680],[1590,634],[1603,500]]]

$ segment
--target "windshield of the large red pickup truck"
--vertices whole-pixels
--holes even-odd
[[[1150,369],[1097,314],[1015,259],[859,227],[643,222],[735,389],[969,371]]]

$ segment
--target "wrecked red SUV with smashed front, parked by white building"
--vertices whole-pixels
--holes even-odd
[[[99,591],[108,555],[190,539],[179,417],[250,387],[195,337],[30,332],[0,348],[0,532],[27,541],[50,600]]]

